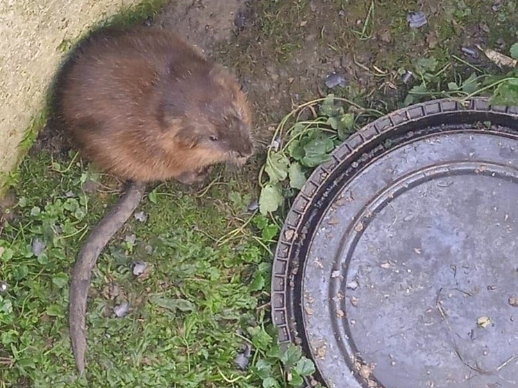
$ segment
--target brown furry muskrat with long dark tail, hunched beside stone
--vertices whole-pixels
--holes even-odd
[[[128,182],[94,227],[72,271],[69,330],[85,369],[90,276],[104,246],[131,217],[147,183],[201,182],[219,162],[253,153],[251,113],[239,83],[178,35],[157,28],[92,33],[58,74],[58,112],[80,154]]]

